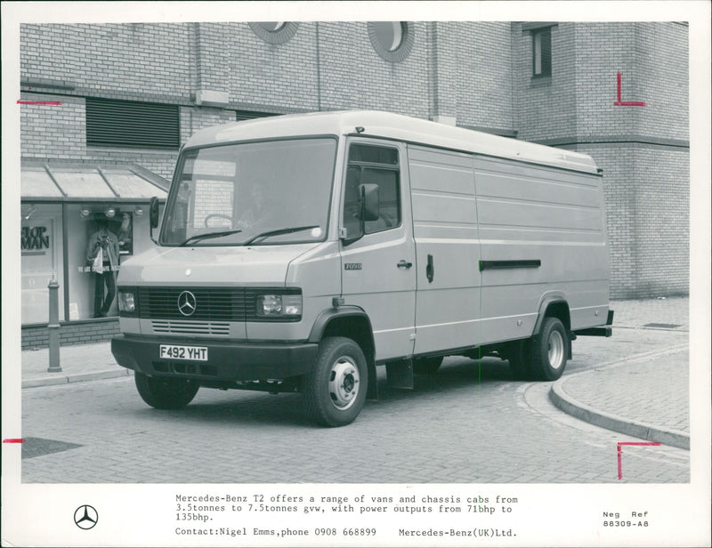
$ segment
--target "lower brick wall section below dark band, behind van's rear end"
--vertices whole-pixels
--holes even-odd
[[[576,148],[603,168],[611,298],[689,293],[689,155],[640,143]]]

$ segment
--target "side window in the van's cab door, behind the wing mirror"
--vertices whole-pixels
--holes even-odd
[[[398,149],[352,144],[344,189],[344,228],[348,234],[359,230],[359,185],[378,187],[379,215],[367,221],[366,234],[389,230],[401,224],[401,178]]]

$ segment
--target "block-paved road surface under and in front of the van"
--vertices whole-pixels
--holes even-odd
[[[158,411],[125,377],[29,389],[23,437],[82,447],[23,460],[22,480],[618,483],[623,438],[555,410],[569,423],[533,412],[531,387],[541,384],[513,383],[496,359],[448,359],[438,375],[418,377],[416,391],[384,387],[340,429],[312,426],[299,395],[201,390],[185,409]],[[623,481],[684,483],[689,474],[689,452],[651,447],[627,455]]]

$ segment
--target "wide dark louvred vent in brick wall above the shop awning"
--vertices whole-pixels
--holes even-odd
[[[177,105],[86,99],[86,145],[138,149],[178,149]]]

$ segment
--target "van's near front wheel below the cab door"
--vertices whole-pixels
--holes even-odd
[[[345,426],[363,408],[368,367],[360,346],[346,337],[320,342],[312,371],[303,377],[306,409],[322,426]]]

